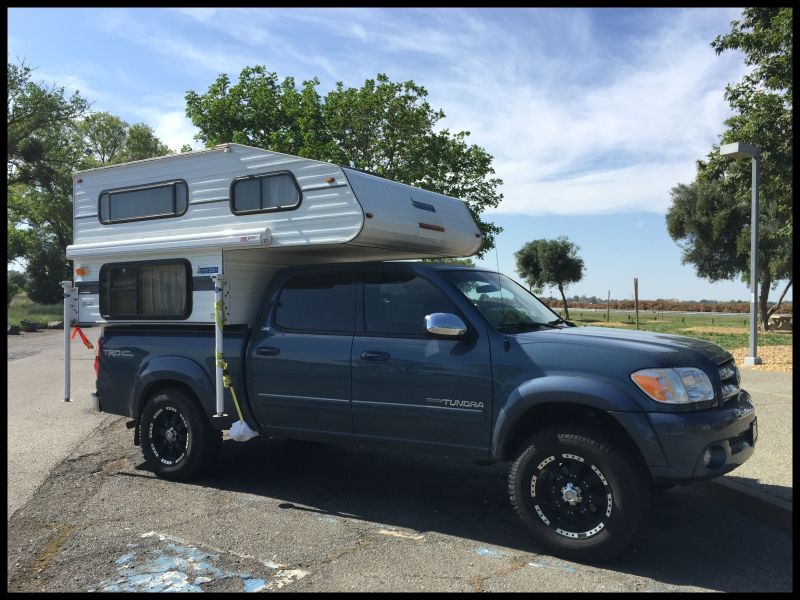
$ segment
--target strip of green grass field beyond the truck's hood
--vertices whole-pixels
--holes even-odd
[[[554,307],[555,308],[555,307]],[[564,311],[556,311],[562,317]],[[573,308],[570,320],[577,325],[606,326],[606,313]],[[612,310],[608,326],[636,329],[636,313],[631,310]],[[750,318],[744,315],[708,315],[707,313],[675,314],[639,311],[639,329],[659,333],[688,335],[714,342],[726,350],[743,348],[749,344]],[[758,334],[759,346],[791,346],[791,332]]]

